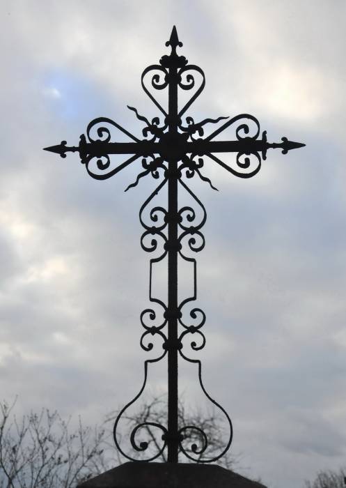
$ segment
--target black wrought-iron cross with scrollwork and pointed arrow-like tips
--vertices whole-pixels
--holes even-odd
[[[205,313],[198,307],[189,312],[189,318],[184,319],[184,307],[196,300],[196,259],[186,255],[187,249],[191,252],[199,252],[205,246],[205,240],[201,229],[205,224],[207,214],[202,202],[194,195],[189,186],[184,183],[183,177],[192,178],[198,175],[203,181],[210,184],[210,179],[203,176],[203,158],[208,157],[218,165],[240,178],[251,178],[260,171],[261,161],[267,157],[269,148],[281,148],[283,154],[293,148],[305,146],[297,142],[291,142],[282,137],[279,143],[269,143],[266,131],[260,137],[260,124],[254,116],[249,114],[237,115],[233,118],[219,117],[219,119],[204,119],[194,122],[191,116],[187,116],[183,122],[182,116],[196,100],[205,86],[205,75],[203,70],[195,65],[189,65],[184,56],[177,53],[177,48],[182,47],[178,34],[173,27],[171,38],[166,46],[171,47],[169,55],[162,56],[159,64],[148,66],[143,71],[141,84],[143,90],[155,103],[162,117],[155,117],[150,122],[146,117],[141,116],[134,107],[129,107],[139,121],[146,124],[143,129],[144,139],[139,139],[125,130],[121,125],[111,119],[100,117],[94,119],[86,128],[86,135],[81,135],[79,146],[67,146],[65,141],[57,146],[45,148],[46,151],[58,153],[62,158],[68,152],[78,152],[81,162],[86,166],[86,171],[93,178],[104,180],[117,174],[132,162],[141,159],[143,171],[136,177],[136,181],[129,185],[126,190],[133,188],[139,183],[140,178],[151,174],[153,178],[160,178],[154,192],[146,199],[141,206],[139,219],[144,228],[141,236],[141,247],[147,252],[158,252],[158,256],[150,259],[150,285],[149,300],[162,309],[162,319],[157,322],[157,312],[153,308],[143,310],[141,313],[141,325],[144,332],[141,335],[141,347],[145,351],[152,351],[153,343],[150,337],[157,336],[162,340],[162,353],[155,358],[150,358],[144,363],[144,381],[138,395],[132,399],[120,411],[114,425],[114,440],[117,448],[128,459],[134,460],[121,448],[117,427],[123,413],[136,402],[146,387],[148,376],[148,365],[168,357],[168,423],[166,426],[155,422],[145,422],[137,425],[130,436],[132,448],[143,452],[148,449],[148,442],[139,442],[138,434],[146,425],[156,427],[162,433],[162,447],[159,452],[148,457],[148,461],[156,459],[167,448],[168,462],[178,462],[178,452],[198,462],[214,462],[221,457],[230,447],[233,436],[233,428],[228,413],[215,402],[203,386],[200,360],[189,357],[189,353],[183,352],[187,349],[186,339],[190,337],[192,351],[200,351],[205,346],[205,335],[202,328],[205,324]],[[155,90],[168,89],[168,110],[166,111],[157,101],[146,84],[148,77],[151,77],[151,88]],[[197,84],[196,79],[200,80]],[[186,102],[182,109],[178,109],[178,91],[194,90],[194,94]],[[219,128],[214,130],[207,137],[203,137],[204,128],[207,124],[217,124],[223,121]],[[215,138],[233,126],[235,128],[235,140],[215,140]],[[111,128],[123,132],[130,140],[129,142],[111,142]],[[96,135],[93,135],[93,134]],[[233,165],[226,164],[219,158],[221,153],[235,153]],[[111,165],[111,155],[129,155],[129,158],[120,165]],[[152,204],[152,200],[164,187],[168,188],[168,207],[152,206],[149,211],[149,222],[144,218],[144,212]],[[186,191],[194,200],[196,208],[191,206],[178,206],[178,186]],[[200,215],[198,217],[198,215]],[[178,257],[193,265],[194,269],[194,293],[178,303]],[[153,264],[168,260],[168,302],[152,296],[152,266]],[[179,328],[180,326],[180,328]],[[196,339],[195,339],[196,337]],[[208,439],[198,425],[178,426],[178,356],[198,366],[198,379],[203,392],[210,399],[210,402],[217,406],[226,417],[229,425],[229,437],[223,452],[219,456],[209,459],[207,455]],[[194,429],[200,434],[200,445],[190,446],[187,452],[184,446],[184,433]],[[196,459],[191,452],[196,455]],[[197,459],[198,458],[198,459]],[[143,458],[141,458],[143,460]]]

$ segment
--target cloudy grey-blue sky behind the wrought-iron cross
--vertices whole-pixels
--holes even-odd
[[[142,137],[126,105],[159,115],[141,73],[168,53],[175,24],[180,52],[206,76],[187,115],[247,112],[269,141],[306,143],[269,151],[249,180],[206,160],[219,192],[189,181],[208,213],[197,256],[205,386],[233,420],[244,475],[292,488],[345,466],[345,1],[2,0],[0,9],[1,397],[19,395],[19,415],[44,406],[92,425],[141,386],[150,256],[138,211],[152,178],[124,193],[140,162],[95,181],[77,154],[42,147],[77,144],[97,116]],[[195,380],[182,369],[191,405]],[[165,381],[153,372],[149,388]]]

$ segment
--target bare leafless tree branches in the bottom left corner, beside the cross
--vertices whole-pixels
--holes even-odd
[[[104,429],[69,422],[42,410],[17,420],[0,402],[0,488],[72,488],[105,471]]]

